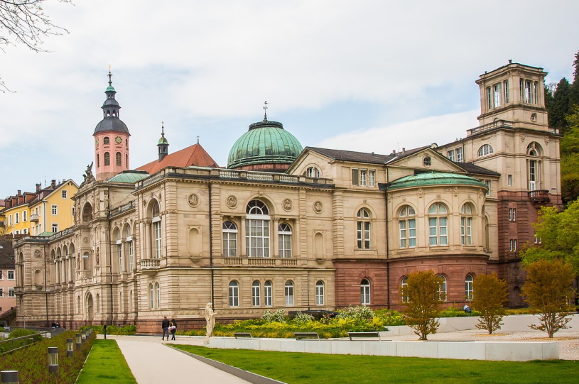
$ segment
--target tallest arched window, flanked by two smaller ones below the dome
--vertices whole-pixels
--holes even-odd
[[[264,202],[251,200],[245,220],[246,251],[250,258],[269,258],[269,209]]]

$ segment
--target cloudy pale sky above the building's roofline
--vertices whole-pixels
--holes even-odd
[[[572,80],[579,1],[47,1],[70,31],[0,53],[0,197],[82,181],[107,73],[131,168],[197,141],[217,161],[249,124],[302,146],[391,153],[478,125],[475,80],[508,60]]]

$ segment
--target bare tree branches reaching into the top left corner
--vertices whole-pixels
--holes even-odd
[[[26,45],[35,52],[47,52],[42,48],[44,38],[68,33],[55,26],[44,13],[42,3],[46,0],[0,0],[0,50],[4,45]],[[70,3],[72,0],[57,0]],[[1,88],[6,89],[0,77]],[[4,91],[2,91],[4,92]]]

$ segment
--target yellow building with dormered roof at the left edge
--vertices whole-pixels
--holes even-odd
[[[73,180],[63,180],[41,188],[36,192],[21,192],[4,200],[2,214],[5,219],[6,234],[40,235],[44,232],[58,232],[72,226],[74,202],[71,197],[78,185]]]

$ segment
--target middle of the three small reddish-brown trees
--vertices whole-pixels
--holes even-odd
[[[478,275],[472,282],[472,290],[476,294],[470,305],[480,312],[476,327],[486,329],[489,334],[501,329],[501,320],[505,313],[504,304],[509,301],[507,282],[499,279],[496,273]]]

